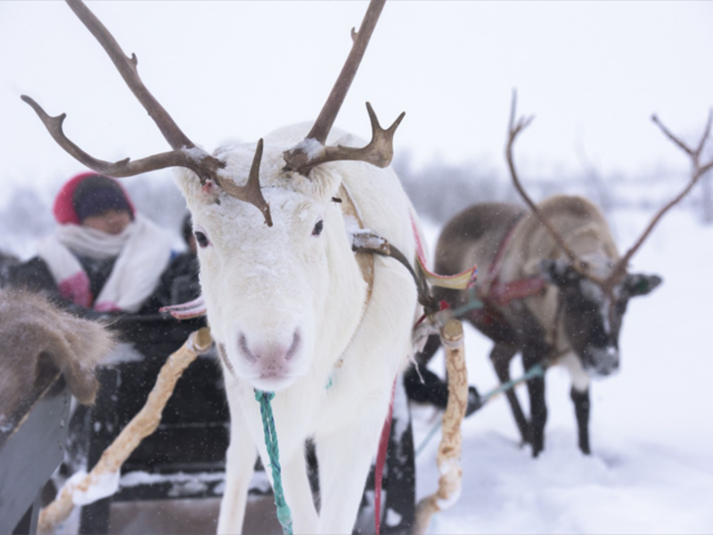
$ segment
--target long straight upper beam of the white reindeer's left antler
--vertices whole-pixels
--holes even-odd
[[[86,4],[84,4],[82,0],[66,0],[66,2],[71,10],[78,16],[78,19],[86,26],[86,29],[92,32],[92,35],[99,41],[102,48],[109,54],[111,62],[113,62],[117,70],[119,70],[121,78],[124,78],[128,88],[131,89],[131,92],[146,111],[148,111],[153,122],[156,123],[161,134],[163,134],[166,141],[168,141],[168,144],[174,149],[180,149],[181,147],[193,148],[193,146],[195,146],[193,142],[188,139],[188,136],[185,136],[181,128],[178,128],[176,122],[168,115],[168,111],[160,105],[159,101],[157,101],[146,86],[143,85],[143,81],[139,77],[138,70],[136,69],[136,65],[138,64],[136,54],[132,53],[131,58],[127,57],[110,31],[106,29],[102,21],[97,19],[96,15],[86,7]]]

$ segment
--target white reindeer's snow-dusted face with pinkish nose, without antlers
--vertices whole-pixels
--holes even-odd
[[[273,226],[255,206],[201,186],[190,171],[177,178],[193,217],[211,333],[228,370],[265,391],[307,374],[329,290],[329,242],[345,233],[331,201],[339,181],[283,172],[285,148],[266,146],[260,166]],[[214,156],[243,185],[254,152],[245,144]]]

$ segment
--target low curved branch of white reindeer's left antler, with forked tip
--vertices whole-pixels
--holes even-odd
[[[72,143],[70,139],[64,135],[62,123],[67,117],[66,113],[62,113],[57,117],[51,117],[42,109],[42,106],[29,96],[21,95],[20,98],[35,110],[37,116],[42,120],[45,128],[47,128],[47,131],[50,133],[50,136],[53,137],[54,141],[57,142],[62,149],[69,152],[71,156],[86,165],[89,169],[94,169],[97,173],[109,177],[123,178],[173,166],[187,167],[193,170],[197,169],[193,162],[181,151],[161,152],[160,154],[155,154],[136,161],[130,161],[129,158],[115,162],[97,160],[80,149],[76,144]]]

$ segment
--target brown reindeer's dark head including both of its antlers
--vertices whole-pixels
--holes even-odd
[[[713,161],[701,162],[701,154],[709,138],[713,113],[709,114],[706,128],[695,148],[689,147],[674,136],[655,115],[652,117],[663,133],[690,157],[693,168],[691,180],[681,193],[656,213],[643,234],[620,259],[610,261],[600,258],[593,261],[593,259],[578,256],[568,246],[553,226],[552,221],[545,216],[542,210],[537,208],[520,184],[512,156],[512,145],[518,134],[528,127],[533,118],[518,119],[515,122],[516,103],[516,95],[513,93],[508,139],[505,147],[512,181],[530,210],[545,226],[561,252],[567,257],[567,259],[544,260],[540,266],[541,272],[547,282],[555,284],[560,290],[558,306],[560,307],[559,314],[562,317],[562,325],[571,349],[581,358],[584,368],[595,375],[611,374],[619,367],[619,330],[627,310],[628,300],[652,292],[662,282],[661,277],[656,275],[629,274],[627,272],[628,262],[651,234],[660,218],[677,202],[680,202],[703,175],[713,169]]]

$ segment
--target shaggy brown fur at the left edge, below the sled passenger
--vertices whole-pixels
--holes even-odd
[[[18,407],[46,366],[64,374],[79,402],[94,403],[94,367],[113,340],[102,324],[72,316],[44,296],[0,292],[0,421]]]

